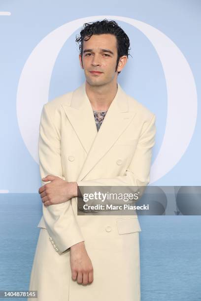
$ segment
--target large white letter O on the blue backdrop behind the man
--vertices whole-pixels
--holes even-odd
[[[17,91],[17,118],[24,143],[38,163],[38,132],[55,61],[68,37],[85,22],[104,18],[126,22],[150,40],[161,60],[167,85],[167,120],[160,151],[151,167],[150,183],[165,176],[181,159],[197,119],[197,91],[191,68],[179,48],[160,30],[131,18],[91,16],[50,32],[33,49],[22,70]],[[56,41],[56,42],[55,42]]]

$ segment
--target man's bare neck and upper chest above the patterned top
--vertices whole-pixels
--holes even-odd
[[[103,86],[90,86],[86,81],[86,93],[93,110],[107,111],[117,93],[117,82]]]

